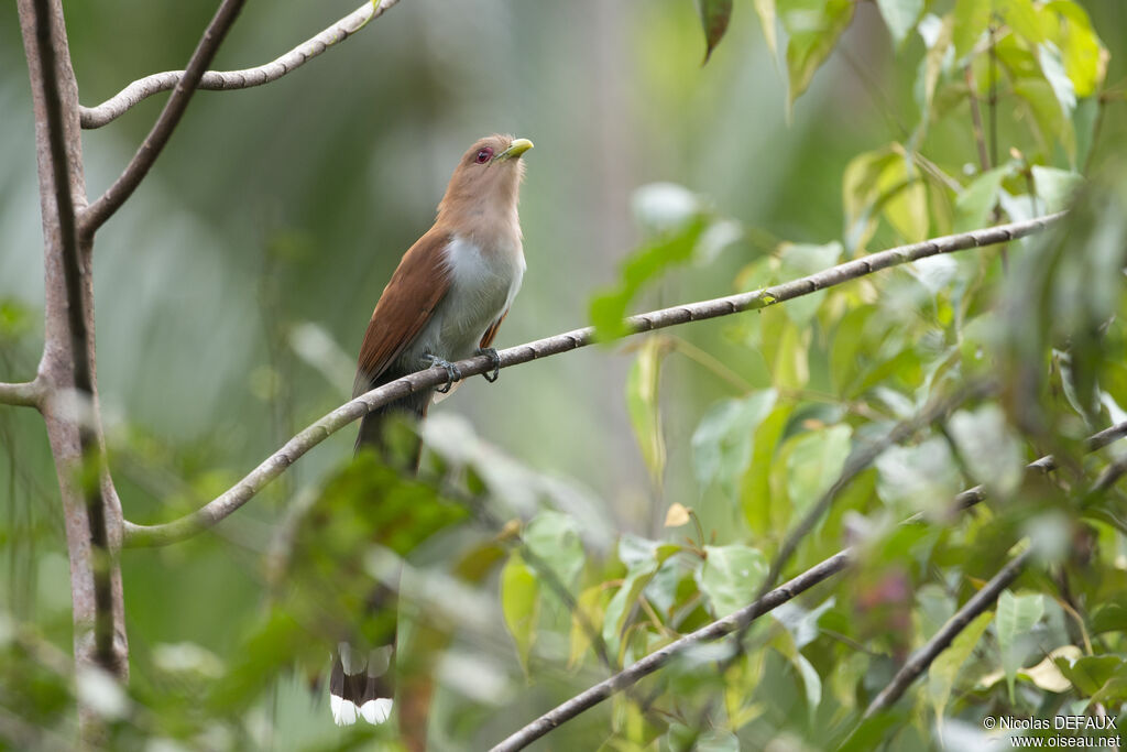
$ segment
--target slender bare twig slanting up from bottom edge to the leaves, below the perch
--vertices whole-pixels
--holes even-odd
[[[814,587],[819,582],[832,577],[849,565],[851,556],[851,549],[838,551],[731,616],[713,621],[707,627],[702,627],[678,640],[669,643],[662,649],[650,653],[637,663],[630,664],[630,666],[620,673],[605,681],[601,681],[591,689],[556,707],[553,710],[540,716],[500,744],[494,746],[491,752],[513,752],[514,750],[524,749],[560,724],[593,708],[615,692],[632,687],[639,680],[667,664],[674,656],[702,643],[717,640],[725,635],[730,635],[764,613],[769,613],[783,603],[793,600],[797,595]]]

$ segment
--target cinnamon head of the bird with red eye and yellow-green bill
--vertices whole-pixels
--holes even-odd
[[[438,204],[440,220],[458,222],[496,212],[515,212],[524,160],[532,149],[527,139],[487,135],[478,139],[454,168],[446,195]]]

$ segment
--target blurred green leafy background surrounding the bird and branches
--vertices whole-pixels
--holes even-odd
[[[743,656],[685,656],[545,749],[974,749],[991,743],[984,715],[1120,714],[1124,499],[1085,489],[1122,450],[1080,442],[1127,417],[1127,8],[754,0],[721,39],[726,8],[410,0],[277,83],[198,95],[99,233],[98,365],[127,517],[198,506],[347,397],[383,283],[482,133],[536,143],[530,268],[502,345],[587,321],[613,339],[624,312],[1026,219],[1083,184],[1080,206],[1044,240],[474,380],[435,408],[417,481],[349,465],[341,432],[214,534],[123,555],[128,696],[70,678],[44,432],[0,412],[8,743],[65,740],[80,692],[125,749],[394,744],[394,729],[337,732],[309,683],[336,639],[380,629],[364,598],[406,557],[400,667],[437,687],[431,745],[488,745],[748,602],[851,452],[994,377],[996,396],[855,478],[788,568],[858,543],[854,570],[764,620]],[[249,3],[216,64],[268,60],[349,10]],[[66,3],[82,101],[183,65],[211,12]],[[42,344],[43,282],[15,8],[0,18],[0,377],[18,380]],[[159,106],[85,134],[91,193]],[[1057,474],[1026,478],[1047,452]],[[979,483],[991,502],[953,515]],[[860,724],[1014,546],[1038,566]]]

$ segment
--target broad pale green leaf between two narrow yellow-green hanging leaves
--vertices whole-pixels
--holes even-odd
[[[693,470],[702,488],[713,481],[734,487],[752,457],[755,428],[771,413],[775,397],[774,389],[764,389],[709,408],[692,439]]]

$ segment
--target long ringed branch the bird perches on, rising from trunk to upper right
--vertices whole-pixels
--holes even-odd
[[[973,232],[925,240],[924,242],[909,246],[890,248],[838,264],[809,276],[764,287],[763,290],[695,303],[685,303],[683,306],[632,316],[627,319],[627,326],[631,333],[638,334],[687,324],[690,321],[703,321],[742,311],[766,308],[767,306],[808,295],[818,290],[833,287],[880,269],[929,256],[950,254],[967,248],[985,247],[1023,238],[1041,232],[1049,225],[1058,222],[1064,215],[1065,213],[1061,212],[1026,222],[1013,222],[985,230],[975,230]],[[497,353],[500,359],[499,368],[511,368],[536,359],[585,347],[594,342],[593,335],[594,330],[587,327],[499,351]],[[459,361],[455,365],[461,371],[462,379],[491,371],[494,368],[490,359],[485,355]],[[211,528],[250,501],[255,494],[261,490],[274,478],[282,475],[301,455],[353,421],[388,402],[402,399],[424,389],[432,389],[445,382],[445,370],[426,369],[361,395],[301,431],[287,441],[282,449],[266,458],[242,480],[196,512],[180,517],[175,522],[159,525],[137,525],[126,521],[125,545],[166,546]]]

